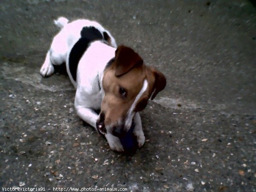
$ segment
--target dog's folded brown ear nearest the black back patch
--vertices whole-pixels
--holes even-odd
[[[120,45],[115,52],[116,72],[119,77],[129,72],[133,67],[139,67],[143,64],[142,58],[133,49]]]

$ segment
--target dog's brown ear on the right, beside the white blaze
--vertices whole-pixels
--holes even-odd
[[[151,100],[153,100],[155,98],[155,96],[157,95],[157,93],[159,93],[161,90],[164,89],[164,87],[166,86],[166,78],[163,75],[163,73],[157,71],[156,69],[154,69],[153,67],[150,68],[152,73],[154,74],[154,85],[153,85],[153,89],[152,89],[152,96],[151,96]]]

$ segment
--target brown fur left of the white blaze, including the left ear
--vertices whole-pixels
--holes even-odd
[[[144,79],[145,65],[140,56],[129,47],[119,46],[113,64],[105,69],[102,80],[105,96],[101,112],[105,113],[106,127],[123,126]]]

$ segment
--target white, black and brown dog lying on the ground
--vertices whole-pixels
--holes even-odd
[[[55,20],[61,28],[53,38],[40,73],[54,73],[53,65],[66,63],[76,88],[78,116],[105,136],[110,148],[124,151],[119,140],[134,122],[138,146],[145,143],[139,111],[166,86],[166,78],[144,64],[133,49],[120,45],[96,21],[65,17]],[[99,115],[96,110],[100,110]]]

